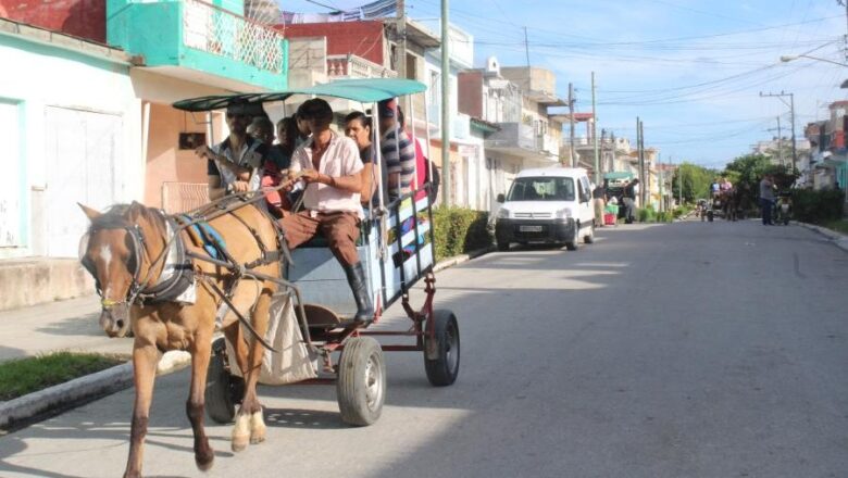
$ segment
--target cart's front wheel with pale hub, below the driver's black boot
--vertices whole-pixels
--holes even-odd
[[[345,344],[338,363],[336,397],[346,424],[365,426],[379,418],[386,400],[386,362],[376,340],[354,337]]]

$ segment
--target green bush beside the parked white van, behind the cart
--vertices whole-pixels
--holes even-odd
[[[489,214],[463,207],[433,210],[436,260],[452,257],[491,246]]]

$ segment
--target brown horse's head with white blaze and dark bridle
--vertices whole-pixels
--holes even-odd
[[[124,337],[129,329],[129,306],[139,289],[144,247],[133,210],[142,206],[116,205],[107,213],[79,207],[91,221],[79,242],[79,260],[100,294],[100,326],[109,337]]]

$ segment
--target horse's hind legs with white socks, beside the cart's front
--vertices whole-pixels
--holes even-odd
[[[269,289],[263,289],[262,294],[257,301],[257,306],[253,311],[253,328],[257,330],[260,337],[265,336],[269,325],[269,310],[271,307],[271,292]],[[236,429],[233,431],[233,450],[236,450],[236,445],[247,445],[244,442],[244,432],[249,429],[249,437],[251,443],[261,443],[265,441],[265,422],[262,418],[262,405],[259,403],[257,397],[257,383],[259,382],[259,373],[262,368],[262,356],[264,355],[264,349],[259,340],[251,337],[250,347],[248,350],[248,370],[245,375],[245,400],[241,402],[241,407],[238,411],[238,419],[236,422]],[[241,427],[239,428],[239,425]],[[238,433],[239,442],[236,442]],[[244,445],[242,445],[244,443]]]

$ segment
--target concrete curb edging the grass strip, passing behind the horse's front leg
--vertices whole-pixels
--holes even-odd
[[[167,375],[191,363],[188,352],[166,352],[157,365],[157,375]],[[133,363],[86,375],[64,383],[0,403],[0,435],[14,431],[57,413],[74,408],[133,386]]]

